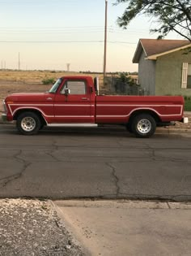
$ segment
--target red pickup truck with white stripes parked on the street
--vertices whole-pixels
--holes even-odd
[[[3,101],[2,118],[16,120],[21,134],[49,127],[124,125],[136,137],[151,137],[157,126],[183,120],[180,96],[99,95],[91,76],[64,76],[46,93],[13,93]]]

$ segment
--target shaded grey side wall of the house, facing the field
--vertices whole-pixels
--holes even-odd
[[[146,60],[146,55],[142,55],[138,63],[138,84],[146,90],[146,94],[155,95],[155,61]]]

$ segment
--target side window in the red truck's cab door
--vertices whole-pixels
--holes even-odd
[[[86,94],[86,83],[84,80],[67,80],[61,93],[65,93],[65,89],[70,89],[70,94]]]

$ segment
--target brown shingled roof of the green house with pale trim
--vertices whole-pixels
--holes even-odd
[[[157,57],[169,54],[177,50],[191,46],[189,40],[166,40],[166,39],[140,39],[134,53],[133,63],[138,63],[142,50],[146,59],[157,59]]]

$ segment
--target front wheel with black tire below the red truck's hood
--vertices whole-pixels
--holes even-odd
[[[16,126],[19,133],[23,135],[34,135],[40,130],[40,118],[34,112],[23,112],[18,116]]]

